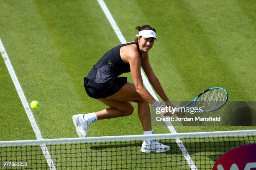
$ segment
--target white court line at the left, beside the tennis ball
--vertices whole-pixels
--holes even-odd
[[[31,123],[31,126],[32,126],[32,128],[33,128],[33,130],[34,130],[34,132],[36,134],[36,138],[39,139],[39,140],[42,140],[43,138],[42,138],[41,132],[40,132],[40,130],[39,130],[37,124],[36,124],[36,120],[35,120],[35,118],[33,116],[33,113],[31,111],[29,105],[28,105],[28,101],[27,101],[27,99],[26,99],[26,97],[24,95],[24,92],[23,92],[23,90],[22,90],[22,88],[20,86],[20,82],[18,81],[18,78],[17,78],[17,76],[16,76],[16,74],[15,74],[15,72],[13,70],[13,66],[12,66],[12,64],[11,64],[11,62],[9,60],[9,57],[8,57],[6,51],[5,51],[5,47],[3,46],[3,43],[1,41],[1,39],[0,39],[0,53],[2,54],[2,57],[3,57],[4,61],[5,61],[5,65],[6,65],[8,71],[10,73],[10,76],[11,76],[11,78],[13,80],[13,84],[15,85],[15,88],[16,88],[16,90],[18,92],[18,95],[19,95],[20,100],[21,100],[21,102],[23,104],[23,107],[24,107],[24,109],[25,109],[25,111],[26,111],[26,113],[28,115],[28,119],[29,119],[29,121]],[[50,169],[51,170],[56,170],[56,168],[54,166],[54,163],[51,160],[51,155],[50,155],[46,145],[41,145],[41,149],[42,149],[42,151],[44,153],[44,157],[46,158],[46,161],[47,161]]]

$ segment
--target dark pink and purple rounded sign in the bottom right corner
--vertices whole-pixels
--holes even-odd
[[[228,151],[217,160],[212,170],[256,170],[256,143]]]

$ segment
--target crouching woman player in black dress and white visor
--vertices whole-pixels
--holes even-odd
[[[118,45],[106,52],[92,67],[87,77],[84,77],[87,95],[109,107],[98,112],[73,115],[79,137],[87,137],[88,126],[97,120],[131,115],[134,109],[130,102],[138,103],[138,117],[144,134],[153,134],[149,104],[154,107],[162,105],[143,86],[141,66],[162,100],[166,101],[166,105],[173,106],[148,62],[148,51],[153,47],[154,40],[157,40],[156,30],[149,25],[137,26],[136,30],[139,31],[136,40]],[[127,82],[127,77],[118,77],[124,72],[131,72],[134,85]],[[169,146],[156,140],[144,140],[141,147],[143,153],[160,153],[168,150]]]

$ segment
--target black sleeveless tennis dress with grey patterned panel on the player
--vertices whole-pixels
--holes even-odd
[[[92,98],[105,98],[115,94],[127,82],[127,77],[118,77],[124,72],[131,72],[129,63],[123,62],[120,56],[120,48],[126,45],[136,44],[130,42],[118,45],[106,52],[92,67],[87,77],[84,77],[84,88]],[[142,54],[140,53],[141,57]]]

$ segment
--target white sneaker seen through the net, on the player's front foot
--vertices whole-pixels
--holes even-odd
[[[141,152],[143,153],[162,153],[170,150],[170,147],[163,145],[156,140],[144,140],[141,146]]]

